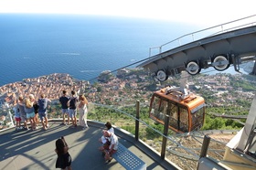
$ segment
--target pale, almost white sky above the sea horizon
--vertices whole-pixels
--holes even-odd
[[[213,26],[254,15],[254,0],[0,0],[0,13],[153,18]]]

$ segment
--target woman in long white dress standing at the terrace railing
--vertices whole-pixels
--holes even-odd
[[[79,124],[80,126],[82,126],[83,130],[85,130],[86,128],[88,128],[88,124],[87,124],[87,105],[88,105],[88,101],[85,98],[85,96],[82,94],[79,97],[79,112],[80,112],[80,120],[79,120]]]

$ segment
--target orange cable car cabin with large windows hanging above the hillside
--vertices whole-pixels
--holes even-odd
[[[199,130],[205,119],[205,100],[194,93],[180,88],[165,88],[154,92],[149,116],[156,122],[165,124],[169,116],[169,128],[176,133]]]

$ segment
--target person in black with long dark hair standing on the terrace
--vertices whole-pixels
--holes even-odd
[[[61,139],[58,139],[56,141],[56,149],[55,152],[58,154],[58,158],[56,161],[56,168],[61,169],[68,169],[71,170],[71,162],[72,158],[68,152],[69,146],[66,143],[63,136],[61,136]]]

